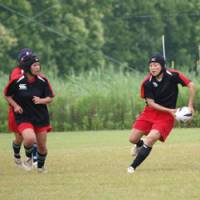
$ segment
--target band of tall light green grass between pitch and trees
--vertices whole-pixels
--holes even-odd
[[[194,80],[199,89],[197,78]],[[48,77],[56,93],[54,102],[49,105],[52,124],[55,131],[130,129],[132,122],[142,111],[145,103],[140,98],[139,87],[144,74],[137,72],[91,70],[66,76],[64,79]],[[7,77],[1,76],[1,90]],[[178,106],[187,104],[187,88],[180,87]],[[197,98],[200,98],[198,90]],[[0,98],[0,131],[7,130],[7,105],[3,96]],[[200,104],[196,101],[196,109]],[[177,126],[200,127],[200,114],[197,112],[190,124]]]

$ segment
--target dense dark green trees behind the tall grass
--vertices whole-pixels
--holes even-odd
[[[164,35],[168,65],[198,72],[199,10],[199,0],[1,0],[1,71],[11,71],[24,47],[58,76],[108,66],[144,71]]]

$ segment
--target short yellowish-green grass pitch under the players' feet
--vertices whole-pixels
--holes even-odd
[[[129,131],[50,133],[47,174],[16,168],[0,134],[0,200],[199,200],[200,129],[175,129],[128,175]]]

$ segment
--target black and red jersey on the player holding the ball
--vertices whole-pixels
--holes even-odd
[[[178,98],[178,84],[187,86],[190,80],[174,69],[164,72],[161,81],[150,74],[141,84],[141,97],[153,99],[155,103],[167,108],[175,108]]]

